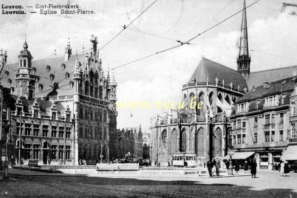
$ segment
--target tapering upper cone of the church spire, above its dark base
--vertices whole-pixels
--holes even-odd
[[[241,25],[241,36],[239,46],[239,56],[248,56],[248,43],[247,43],[247,12],[246,12],[246,1],[244,1],[243,18]]]

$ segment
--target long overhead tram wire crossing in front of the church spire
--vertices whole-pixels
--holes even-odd
[[[259,1],[260,1],[260,0],[256,0],[255,2],[251,3],[250,5],[248,5],[248,6],[247,6],[246,8],[244,8],[244,9],[247,9],[248,7],[250,7],[251,5],[253,5],[253,4],[255,4],[255,3],[259,2]],[[171,50],[171,49],[175,49],[175,48],[181,47],[181,46],[183,46],[183,45],[185,45],[185,44],[188,44],[188,45],[189,45],[189,44],[191,44],[191,43],[190,43],[191,41],[193,41],[194,39],[196,39],[196,38],[197,38],[197,37],[199,37],[200,35],[202,35],[202,34],[204,34],[204,33],[208,32],[209,30],[213,29],[214,27],[216,27],[216,26],[220,25],[221,23],[223,23],[223,22],[227,21],[228,19],[232,18],[233,16],[235,16],[235,15],[239,14],[239,13],[240,13],[240,12],[242,12],[244,9],[241,9],[240,11],[236,12],[235,14],[232,14],[232,15],[231,15],[231,16],[229,16],[228,18],[226,18],[226,19],[222,20],[221,22],[219,22],[219,23],[215,24],[214,26],[212,26],[212,27],[208,28],[207,30],[205,30],[205,31],[201,32],[200,34],[198,34],[197,36],[195,36],[195,37],[193,37],[193,38],[189,39],[189,40],[188,40],[188,41],[186,41],[186,42],[176,41],[176,42],[180,43],[180,45],[176,45],[176,46],[173,46],[173,47],[171,47],[171,48],[167,48],[167,49],[164,49],[164,50],[158,51],[158,52],[156,52],[156,53],[152,53],[152,54],[150,54],[150,55],[147,55],[147,56],[145,56],[145,57],[139,58],[139,59],[137,59],[137,60],[134,60],[134,61],[131,61],[131,62],[128,62],[128,63],[122,64],[122,65],[119,65],[119,66],[117,66],[117,67],[114,67],[114,68],[112,68],[112,69],[108,69],[108,70],[106,70],[106,71],[104,71],[104,72],[108,72],[108,71],[111,71],[111,70],[114,70],[114,69],[117,69],[117,68],[120,68],[120,67],[126,66],[126,65],[128,65],[128,64],[131,64],[131,63],[137,62],[137,61],[139,61],[139,60],[146,59],[146,58],[148,58],[148,57],[151,57],[151,56],[153,56],[153,55],[156,55],[156,54],[159,54],[159,53],[162,53],[162,52],[165,52],[165,51]]]

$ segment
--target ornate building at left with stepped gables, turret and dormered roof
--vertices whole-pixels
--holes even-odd
[[[117,84],[103,72],[97,44],[92,35],[90,51],[73,54],[68,39],[63,56],[33,60],[25,41],[14,64],[7,64],[1,52],[1,85],[9,90],[10,101],[3,116],[10,120],[9,158],[18,159],[20,152],[25,164],[29,159],[95,164],[103,154],[103,161],[109,161]]]

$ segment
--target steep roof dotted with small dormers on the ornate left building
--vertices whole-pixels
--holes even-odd
[[[78,61],[82,64],[86,61],[85,54],[70,55],[66,62],[64,61],[64,56],[32,61],[32,67],[36,68],[36,75],[39,77],[35,84],[35,98],[46,97],[53,91],[53,84],[60,82],[65,77],[66,79],[59,84],[59,89],[56,90],[57,94],[73,94],[74,84],[72,82],[74,82],[74,80],[73,73],[71,74],[71,72],[75,70],[76,58],[78,58]],[[15,74],[18,68],[19,63],[5,64],[0,75],[3,86],[14,88],[12,94],[16,93]],[[84,70],[84,66],[80,68]],[[94,73],[98,70],[95,61],[91,61],[90,69],[91,68],[93,68]]]

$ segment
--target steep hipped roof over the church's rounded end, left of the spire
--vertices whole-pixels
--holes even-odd
[[[206,82],[207,78],[209,82],[215,82],[216,78],[220,83],[223,83],[224,80],[225,85],[229,86],[232,83],[234,88],[238,88],[239,85],[240,90],[247,87],[246,80],[241,73],[202,57],[188,83]]]

